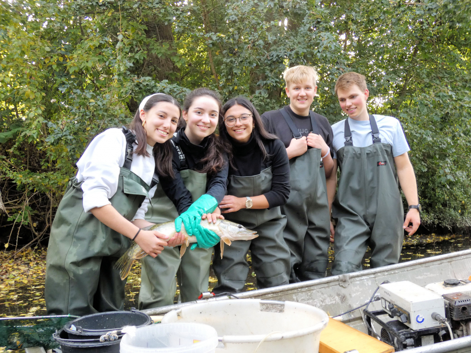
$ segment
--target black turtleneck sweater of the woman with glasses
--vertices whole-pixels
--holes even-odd
[[[273,179],[271,190],[264,193],[269,208],[283,206],[290,195],[290,163],[283,142],[280,140],[268,140],[264,143],[268,153],[268,160],[263,160],[263,153],[256,143],[253,135],[249,142],[238,144],[231,138],[235,168],[229,166],[229,175],[254,176],[260,174],[263,169],[271,167]],[[247,195],[258,196],[258,195]]]

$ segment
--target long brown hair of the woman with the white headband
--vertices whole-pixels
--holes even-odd
[[[173,98],[172,96],[166,94],[158,94],[151,96],[146,104],[144,105],[144,112],[148,112],[152,109],[156,104],[160,102],[169,102],[176,107],[178,107],[181,115],[181,108],[180,104]],[[183,119],[179,119],[183,120]],[[140,117],[139,109],[134,114],[134,118],[132,119],[131,123],[129,124],[129,128],[134,132],[136,135],[136,141],[138,143],[138,147],[134,151],[137,155],[144,155],[149,157],[149,153],[146,151],[147,146],[147,134],[146,130],[142,126],[142,120]],[[163,144],[156,143],[154,145],[154,159],[155,159],[155,171],[160,176],[171,176],[174,177],[175,174],[173,173],[172,168],[172,157],[173,157],[173,149],[171,146],[170,138],[165,141]]]

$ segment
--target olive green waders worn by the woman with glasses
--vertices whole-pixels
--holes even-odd
[[[236,197],[257,196],[271,190],[271,167],[255,176],[229,176],[227,194]],[[240,209],[225,213],[224,217],[257,231],[257,238],[248,241],[233,241],[224,247],[223,258],[218,246],[214,247],[212,267],[218,277],[214,293],[240,292],[244,288],[249,265],[245,259],[247,251],[252,254],[252,266],[257,275],[259,289],[289,283],[290,250],[283,239],[286,217],[280,207],[272,209]]]

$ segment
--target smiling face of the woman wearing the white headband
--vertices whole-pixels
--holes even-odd
[[[163,144],[173,136],[180,118],[179,108],[170,102],[159,102],[147,112],[141,110],[141,121],[145,121],[147,144]]]

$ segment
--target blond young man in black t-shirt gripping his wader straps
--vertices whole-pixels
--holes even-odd
[[[300,65],[283,75],[290,104],[265,112],[262,119],[284,143],[290,159],[291,193],[281,210],[287,218],[283,236],[291,252],[293,283],[326,273],[330,233],[326,177],[333,174],[333,133],[324,116],[309,110],[317,92],[316,70]]]

